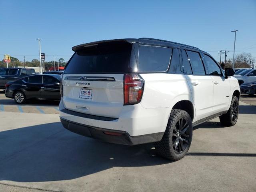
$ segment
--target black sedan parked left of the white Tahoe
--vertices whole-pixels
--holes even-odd
[[[60,75],[32,75],[7,82],[5,96],[23,104],[28,99],[60,100]]]

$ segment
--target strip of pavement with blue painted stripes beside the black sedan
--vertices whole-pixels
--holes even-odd
[[[59,114],[58,101],[31,100],[26,104],[17,104],[14,99],[6,98],[0,91],[0,111],[20,113]]]

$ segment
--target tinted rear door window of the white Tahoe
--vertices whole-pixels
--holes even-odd
[[[194,75],[205,75],[204,65],[201,60],[200,54],[194,51],[186,51]]]

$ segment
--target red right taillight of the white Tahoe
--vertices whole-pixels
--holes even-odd
[[[140,102],[143,94],[144,80],[139,74],[124,74],[124,105]]]

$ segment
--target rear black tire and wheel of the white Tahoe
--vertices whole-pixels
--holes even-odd
[[[190,148],[192,130],[190,115],[184,110],[172,109],[164,136],[155,143],[157,154],[173,161],[183,158]]]

